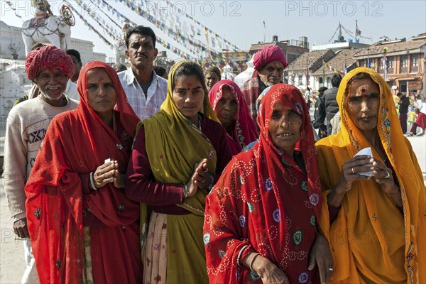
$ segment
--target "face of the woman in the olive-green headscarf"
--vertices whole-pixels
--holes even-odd
[[[204,89],[196,75],[180,76],[175,79],[173,101],[180,113],[188,119],[198,116],[204,101]]]

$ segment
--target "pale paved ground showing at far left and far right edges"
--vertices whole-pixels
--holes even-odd
[[[426,180],[426,135],[409,137]],[[25,270],[23,263],[23,244],[15,238],[12,222],[4,195],[3,180],[0,180],[0,283],[20,283]]]

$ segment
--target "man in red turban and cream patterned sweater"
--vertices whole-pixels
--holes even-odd
[[[24,239],[26,271],[21,283],[38,283],[27,228],[24,187],[50,121],[61,112],[75,109],[78,102],[64,94],[67,81],[74,74],[74,64],[63,50],[44,46],[28,53],[25,61],[28,79],[37,84],[40,94],[9,112],[4,141],[4,189],[13,231]]]

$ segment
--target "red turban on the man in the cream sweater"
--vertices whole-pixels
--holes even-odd
[[[29,80],[33,80],[49,67],[57,68],[68,78],[74,74],[74,63],[70,55],[55,45],[37,48],[26,55],[25,71]]]

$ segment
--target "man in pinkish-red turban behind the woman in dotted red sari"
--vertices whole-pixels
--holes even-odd
[[[241,92],[246,99],[250,116],[256,123],[256,99],[266,87],[282,83],[284,69],[288,66],[283,50],[277,45],[266,45],[253,56],[255,71],[250,80],[244,83]]]

